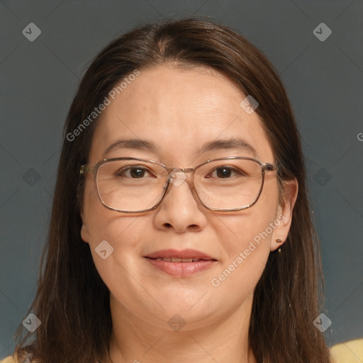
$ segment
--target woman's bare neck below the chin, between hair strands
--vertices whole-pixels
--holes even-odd
[[[257,363],[248,353],[252,294],[229,315],[192,323],[140,318],[127,311],[111,294],[112,363]],[[178,322],[179,320],[179,322]],[[177,322],[177,323],[175,323]],[[110,363],[111,363],[110,362]]]

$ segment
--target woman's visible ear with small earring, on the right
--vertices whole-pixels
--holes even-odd
[[[285,242],[287,236],[289,235],[289,230],[292,220],[292,211],[295,206],[295,202],[298,196],[298,182],[296,179],[284,181],[285,195],[283,201],[279,203],[277,208],[276,221],[279,220],[279,224],[275,223],[277,227],[274,229],[271,240],[271,251],[276,250],[281,247],[281,242],[276,242],[276,240],[281,240]]]

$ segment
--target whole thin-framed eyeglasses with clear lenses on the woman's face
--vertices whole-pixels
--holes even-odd
[[[193,168],[167,167],[136,157],[104,159],[94,167],[82,165],[80,174],[91,172],[102,204],[112,211],[142,213],[162,202],[169,184],[179,186],[191,174],[191,191],[211,211],[242,211],[253,206],[262,192],[270,163],[250,157],[208,160]]]

